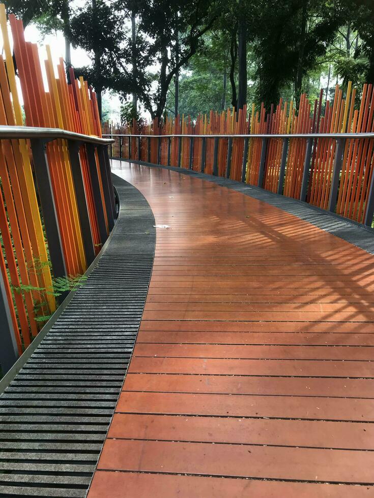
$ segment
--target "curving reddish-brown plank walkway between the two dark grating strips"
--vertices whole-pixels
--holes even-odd
[[[169,227],[89,498],[374,496],[374,256],[122,164]]]

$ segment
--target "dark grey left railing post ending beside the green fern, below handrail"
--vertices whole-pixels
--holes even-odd
[[[43,211],[45,232],[47,234],[49,256],[54,277],[66,276],[66,265],[59,221],[54,203],[51,177],[49,173],[46,143],[43,139],[31,139],[34,171],[38,185],[40,204]]]

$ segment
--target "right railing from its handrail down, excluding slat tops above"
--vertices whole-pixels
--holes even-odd
[[[374,133],[103,136],[113,158],[232,178],[373,222]]]

